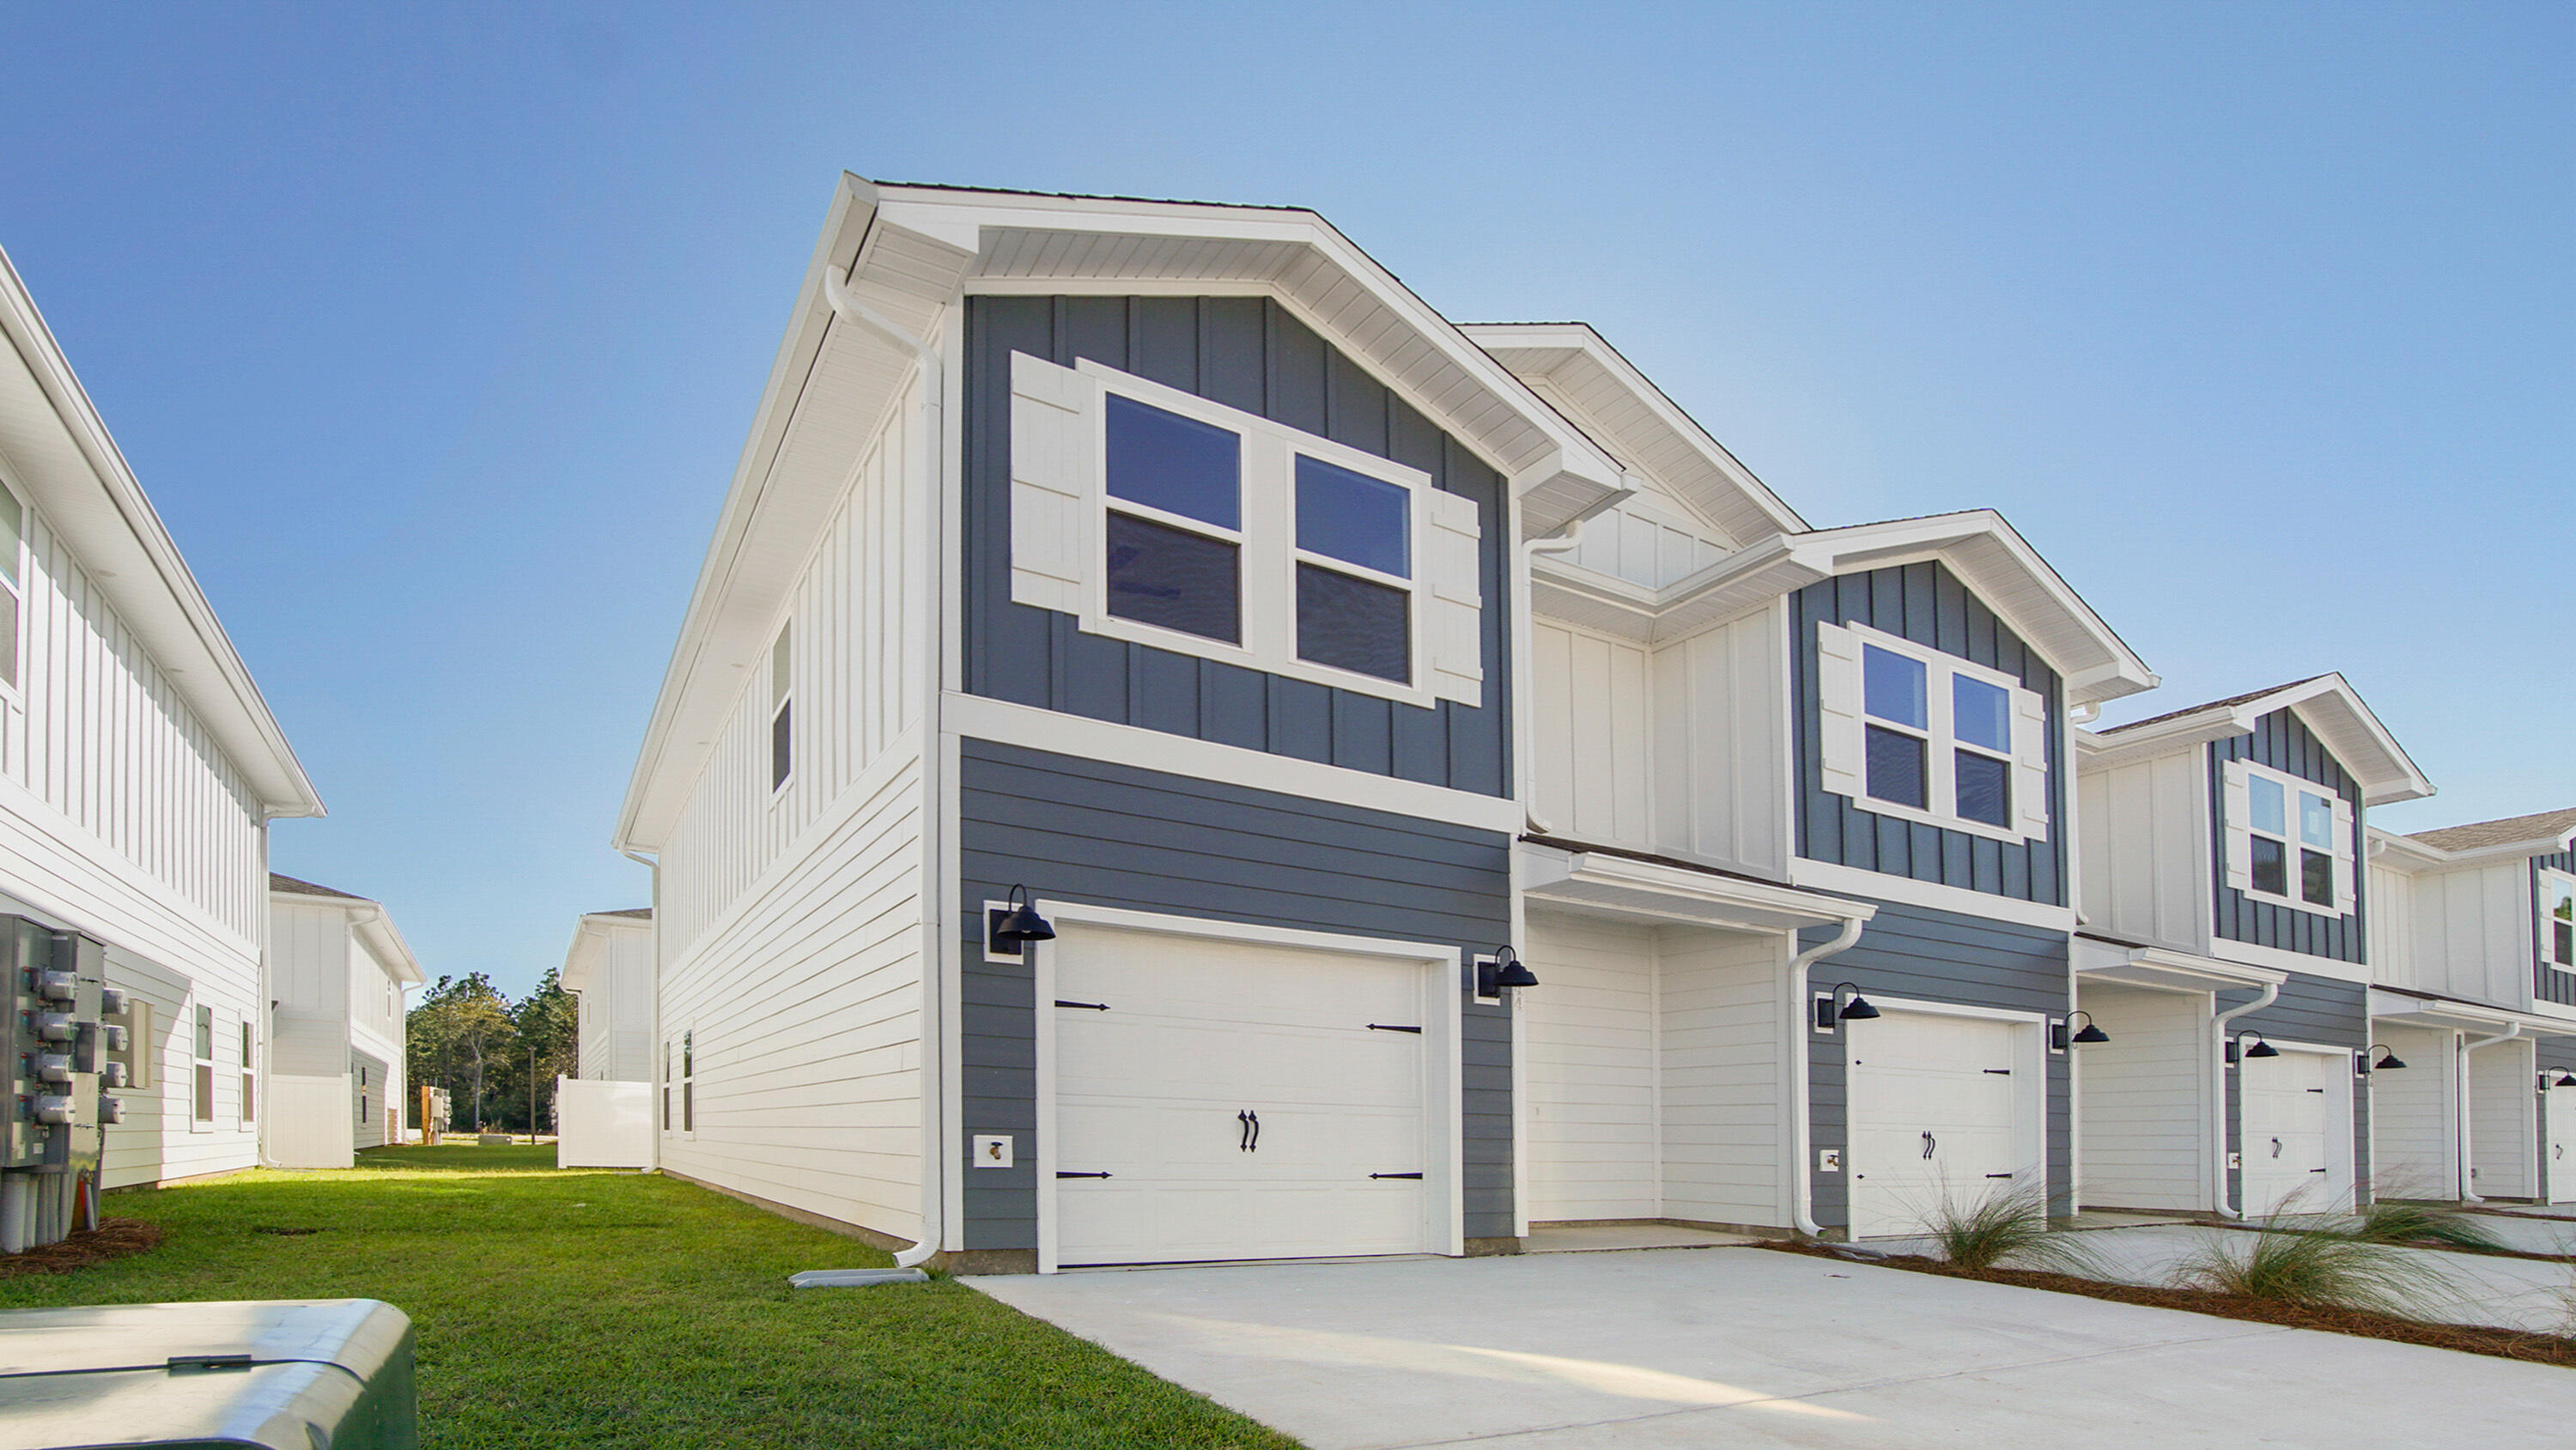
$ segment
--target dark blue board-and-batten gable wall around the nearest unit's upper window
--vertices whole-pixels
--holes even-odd
[[[1484,525],[1484,706],[1401,706],[1010,603],[1010,355],[1074,358],[1422,469]],[[1100,721],[1510,793],[1502,474],[1260,296],[966,299],[966,690]]]

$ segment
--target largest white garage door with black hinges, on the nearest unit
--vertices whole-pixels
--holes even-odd
[[[1430,1247],[1422,963],[1077,925],[1054,961],[1059,1265]]]

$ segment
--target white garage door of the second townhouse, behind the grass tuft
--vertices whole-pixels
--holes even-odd
[[[1850,1064],[1852,1236],[1919,1234],[2040,1169],[2022,1035],[1991,1017],[1883,1010],[1842,1025]]]

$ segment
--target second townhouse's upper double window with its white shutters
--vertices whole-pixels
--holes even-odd
[[[1824,788],[1968,834],[2048,834],[2048,703],[2012,675],[1868,626],[1816,626]]]

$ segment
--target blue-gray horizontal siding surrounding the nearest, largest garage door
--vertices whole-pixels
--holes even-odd
[[[963,901],[1030,896],[1221,922],[1486,950],[1510,935],[1510,837],[1015,744],[958,749]],[[966,1174],[966,1247],[1038,1247],[1038,1002],[1020,966],[984,966],[958,919],[963,1123],[1012,1133],[1018,1167]],[[1463,992],[1463,984],[1461,984]],[[1463,1015],[1466,1236],[1512,1234],[1512,1017]]]

